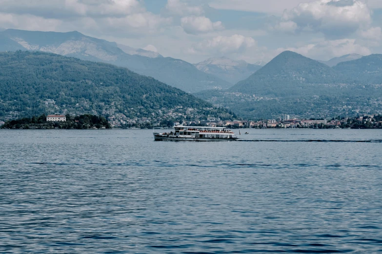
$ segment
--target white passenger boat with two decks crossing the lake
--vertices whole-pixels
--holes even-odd
[[[239,139],[235,133],[225,127],[174,126],[174,129],[171,132],[153,132],[154,140],[223,141]]]

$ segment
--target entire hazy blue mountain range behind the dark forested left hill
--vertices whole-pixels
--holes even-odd
[[[377,112],[382,108],[380,54],[363,57],[348,54],[322,62],[286,51],[264,66],[261,62],[249,64],[226,57],[209,58],[193,65],[79,32],[14,29],[0,32],[0,51],[18,50],[126,67],[248,118],[280,114],[325,117]],[[14,105],[11,101],[6,104]],[[3,111],[12,111],[16,106],[12,107]]]

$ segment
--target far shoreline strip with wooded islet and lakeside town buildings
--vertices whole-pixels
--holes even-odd
[[[69,124],[72,123],[72,124]],[[176,125],[227,127],[227,128],[382,128],[381,114],[362,114],[356,117],[337,117],[328,119],[290,119],[283,115],[277,119],[268,120],[236,120],[221,121],[210,117],[203,121],[153,121],[151,118],[126,118],[85,114],[80,116],[67,115],[41,115],[39,117],[21,118],[18,120],[1,121],[2,128],[172,128]]]

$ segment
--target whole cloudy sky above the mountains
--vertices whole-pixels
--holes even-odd
[[[0,0],[0,27],[76,30],[191,63],[328,60],[382,53],[382,0]]]

